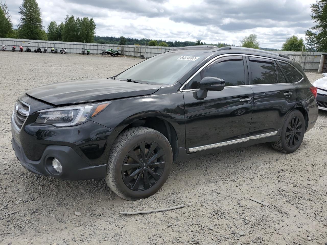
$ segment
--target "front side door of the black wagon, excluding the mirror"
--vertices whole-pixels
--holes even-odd
[[[207,97],[196,96],[199,81],[205,76],[225,80],[222,91],[208,91]],[[253,109],[253,91],[249,85],[247,64],[242,56],[221,57],[198,73],[184,91],[186,149],[249,136]],[[244,141],[246,141],[245,139]],[[209,146],[205,149],[217,146]],[[194,148],[194,149],[192,149]]]

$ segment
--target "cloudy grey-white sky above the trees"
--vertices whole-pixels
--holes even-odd
[[[286,38],[304,32],[313,22],[315,0],[37,0],[43,25],[65,16],[93,17],[96,35],[226,42],[236,45],[251,33],[261,47],[281,48]],[[18,24],[21,0],[7,0]]]

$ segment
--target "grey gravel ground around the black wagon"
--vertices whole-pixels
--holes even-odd
[[[261,144],[177,162],[158,193],[129,202],[104,180],[26,171],[11,148],[9,122],[16,98],[30,88],[109,77],[140,59],[0,52],[0,60],[0,244],[327,244],[326,112],[293,154]],[[308,73],[312,82],[320,76]],[[185,207],[119,215],[178,204]]]

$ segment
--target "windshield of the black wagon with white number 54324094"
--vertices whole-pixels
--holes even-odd
[[[173,84],[207,56],[208,53],[201,52],[167,52],[140,62],[115,79],[131,79],[149,84]]]

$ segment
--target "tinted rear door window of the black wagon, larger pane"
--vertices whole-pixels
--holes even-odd
[[[250,61],[252,84],[277,83],[274,63]]]

